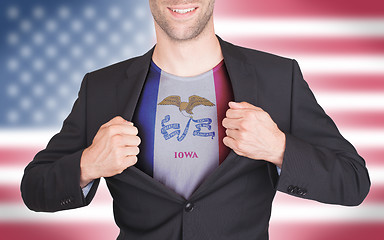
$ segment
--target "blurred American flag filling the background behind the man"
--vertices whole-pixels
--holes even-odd
[[[384,2],[217,0],[215,24],[225,40],[298,60],[370,172],[358,207],[277,193],[270,239],[384,239]],[[0,27],[0,239],[115,239],[105,183],[90,206],[58,213],[29,211],[19,185],[60,130],[84,74],[153,46],[148,1],[2,0]]]

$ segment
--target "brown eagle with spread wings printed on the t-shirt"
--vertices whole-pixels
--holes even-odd
[[[203,106],[215,106],[211,101],[206,98],[192,95],[188,98],[188,102],[182,102],[180,96],[172,95],[164,98],[158,105],[174,105],[179,108],[179,111],[183,113],[185,111],[190,116],[193,115],[192,110],[200,105]],[[183,114],[184,115],[184,114]]]

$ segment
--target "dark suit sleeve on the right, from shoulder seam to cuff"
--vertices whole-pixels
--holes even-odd
[[[365,161],[316,102],[293,60],[291,126],[279,191],[319,202],[359,205],[369,192]]]

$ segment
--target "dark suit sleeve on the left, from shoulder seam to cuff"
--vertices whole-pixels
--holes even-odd
[[[87,75],[62,129],[52,137],[24,170],[22,198],[34,211],[54,212],[88,205],[95,195],[96,180],[84,198],[80,188],[80,159],[86,146]]]

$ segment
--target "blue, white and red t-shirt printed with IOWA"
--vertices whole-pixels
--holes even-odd
[[[221,122],[231,100],[224,61],[193,77],[152,62],[133,119],[142,140],[136,166],[188,199],[229,153]]]

